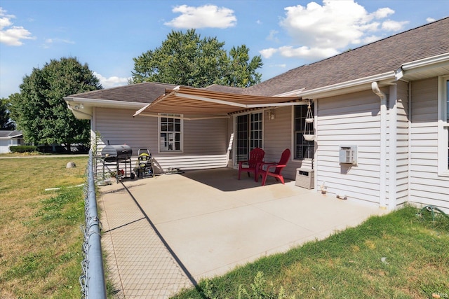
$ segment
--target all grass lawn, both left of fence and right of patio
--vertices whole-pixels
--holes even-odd
[[[87,157],[0,159],[0,298],[80,298]],[[66,169],[74,161],[76,168]],[[449,219],[405,207],[173,298],[449,298]]]

